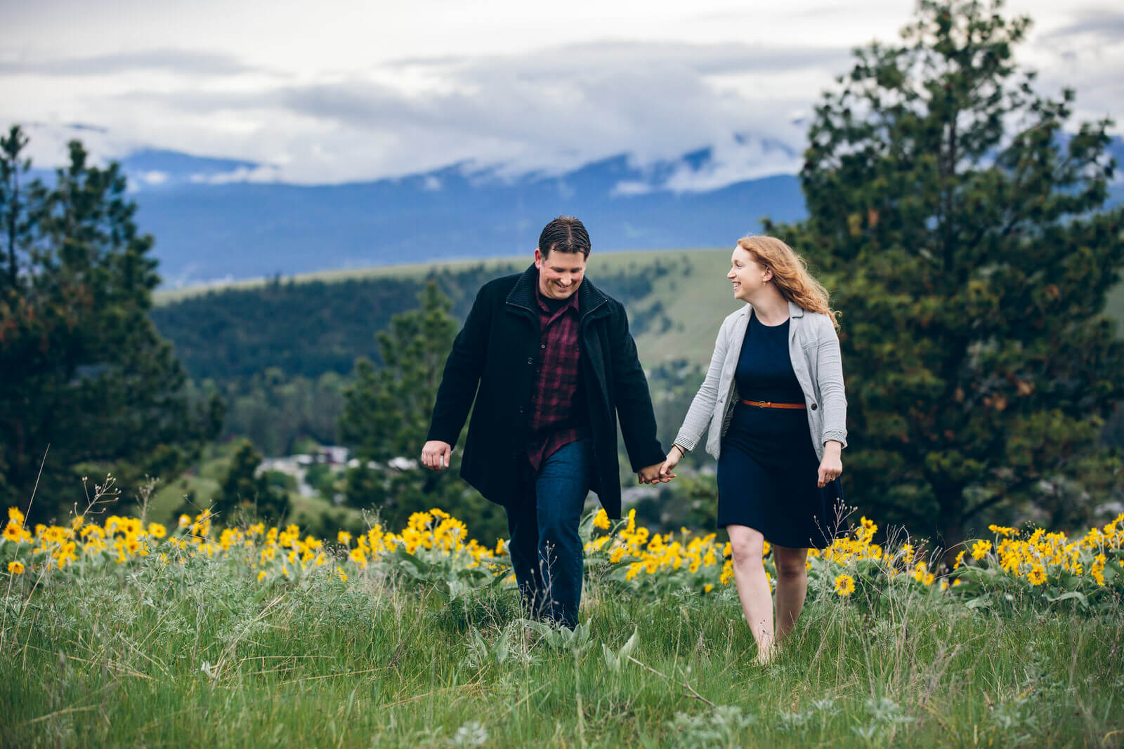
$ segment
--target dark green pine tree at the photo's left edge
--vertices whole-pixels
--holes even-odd
[[[153,238],[118,165],[90,165],[72,141],[54,185],[25,188],[26,143],[18,127],[0,140],[0,501],[27,508],[35,491],[30,517],[45,519],[81,503],[84,473],[112,471],[126,495],[178,473],[223,412],[188,402],[148,320]]]

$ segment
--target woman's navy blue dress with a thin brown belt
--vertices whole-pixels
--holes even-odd
[[[805,402],[788,330],[788,320],[765,326],[750,314],[735,373],[741,400]],[[738,402],[718,458],[718,527],[747,526],[778,546],[830,546],[842,496],[839,479],[816,486],[818,471],[807,411]]]

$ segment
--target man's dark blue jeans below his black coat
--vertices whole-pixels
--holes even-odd
[[[578,625],[582,546],[578,522],[589,494],[592,446],[588,439],[563,445],[527,466],[524,501],[507,509],[508,552],[523,604],[533,619]]]

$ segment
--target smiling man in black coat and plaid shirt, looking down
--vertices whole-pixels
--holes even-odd
[[[586,495],[620,517],[618,415],[641,483],[669,478],[625,310],[584,278],[590,249],[581,221],[560,216],[538,237],[534,265],[484,284],[453,341],[422,449],[426,467],[447,467],[475,400],[461,476],[507,509],[528,614],[571,629]]]

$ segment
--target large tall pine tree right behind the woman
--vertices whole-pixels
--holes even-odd
[[[809,218],[768,229],[842,311],[850,497],[945,546],[986,518],[1072,527],[1122,477],[1098,445],[1124,395],[1112,124],[1075,131],[1073,92],[1035,92],[1028,25],[924,0],[856,51],[810,127]]]

